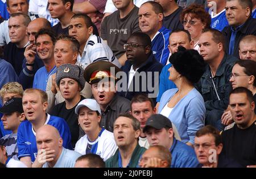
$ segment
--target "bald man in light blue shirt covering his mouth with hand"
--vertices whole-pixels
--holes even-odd
[[[36,168],[73,168],[80,153],[62,146],[59,131],[51,125],[44,125],[36,132],[38,155],[32,167]]]

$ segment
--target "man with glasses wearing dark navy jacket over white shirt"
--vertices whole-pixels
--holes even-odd
[[[122,91],[119,94],[131,100],[137,94],[146,93],[155,102],[163,65],[151,51],[150,37],[142,32],[135,32],[123,47],[127,56],[123,66],[126,79],[122,79]]]

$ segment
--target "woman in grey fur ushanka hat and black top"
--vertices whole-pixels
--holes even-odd
[[[64,118],[71,130],[71,143],[73,147],[79,139],[79,124],[75,109],[77,104],[85,99],[80,95],[84,88],[84,69],[73,64],[60,65],[56,72],[56,84],[60,89],[64,102],[57,104],[49,114]]]

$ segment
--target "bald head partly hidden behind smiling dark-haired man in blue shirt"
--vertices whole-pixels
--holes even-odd
[[[35,35],[41,28],[51,29],[51,23],[45,18],[36,18],[32,20],[27,26],[28,40],[35,45]],[[33,46],[34,46],[33,45]],[[35,46],[34,46],[35,47]]]

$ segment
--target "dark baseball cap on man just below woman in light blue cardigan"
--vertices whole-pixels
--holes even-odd
[[[143,128],[143,133],[150,127],[156,128],[157,130],[164,127],[172,128],[172,122],[162,114],[153,114],[147,119],[146,126]]]

